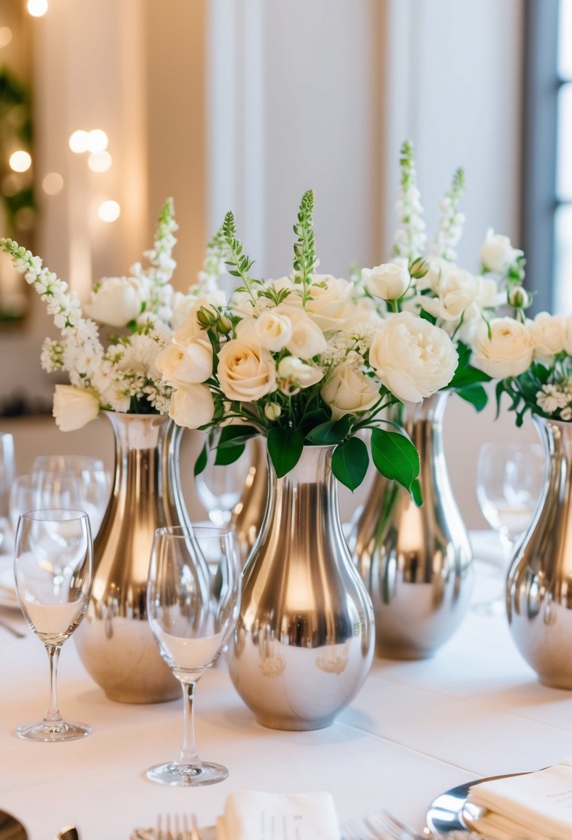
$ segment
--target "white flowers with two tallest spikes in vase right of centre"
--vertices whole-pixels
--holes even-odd
[[[449,387],[480,411],[487,402],[482,383],[492,375],[481,354],[485,338],[497,330],[497,322],[491,319],[500,307],[510,304],[524,320],[523,310],[531,302],[521,286],[523,252],[512,248],[507,236],[489,229],[478,273],[457,265],[455,247],[465,222],[459,211],[465,191],[462,169],[455,171],[439,205],[439,228],[428,249],[413,146],[408,141],[401,148],[400,165],[393,261],[363,269],[361,282],[367,293],[381,298],[393,312],[414,312],[450,335],[460,363]]]

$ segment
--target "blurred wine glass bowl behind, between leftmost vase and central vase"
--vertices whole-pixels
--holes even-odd
[[[218,434],[218,433],[216,433]],[[216,438],[209,436],[207,442],[206,466],[196,476],[196,491],[211,522],[224,527],[231,521],[232,511],[242,496],[244,483],[252,462],[250,441],[244,452],[229,465],[218,465],[216,460]]]

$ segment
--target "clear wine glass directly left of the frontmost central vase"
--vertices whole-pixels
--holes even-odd
[[[159,528],[147,587],[148,619],[159,652],[185,698],[183,743],[173,761],[147,776],[164,785],[212,785],[226,779],[221,764],[201,761],[195,747],[195,687],[211,668],[237,621],[241,567],[234,533],[226,528]]]

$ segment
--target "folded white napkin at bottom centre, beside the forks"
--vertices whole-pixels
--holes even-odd
[[[244,790],[228,796],[216,821],[217,840],[340,840],[329,793]]]

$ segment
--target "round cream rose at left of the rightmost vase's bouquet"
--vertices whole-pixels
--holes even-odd
[[[493,318],[489,338],[486,323],[477,330],[473,364],[494,379],[506,379],[528,370],[534,344],[523,323],[514,318]]]

